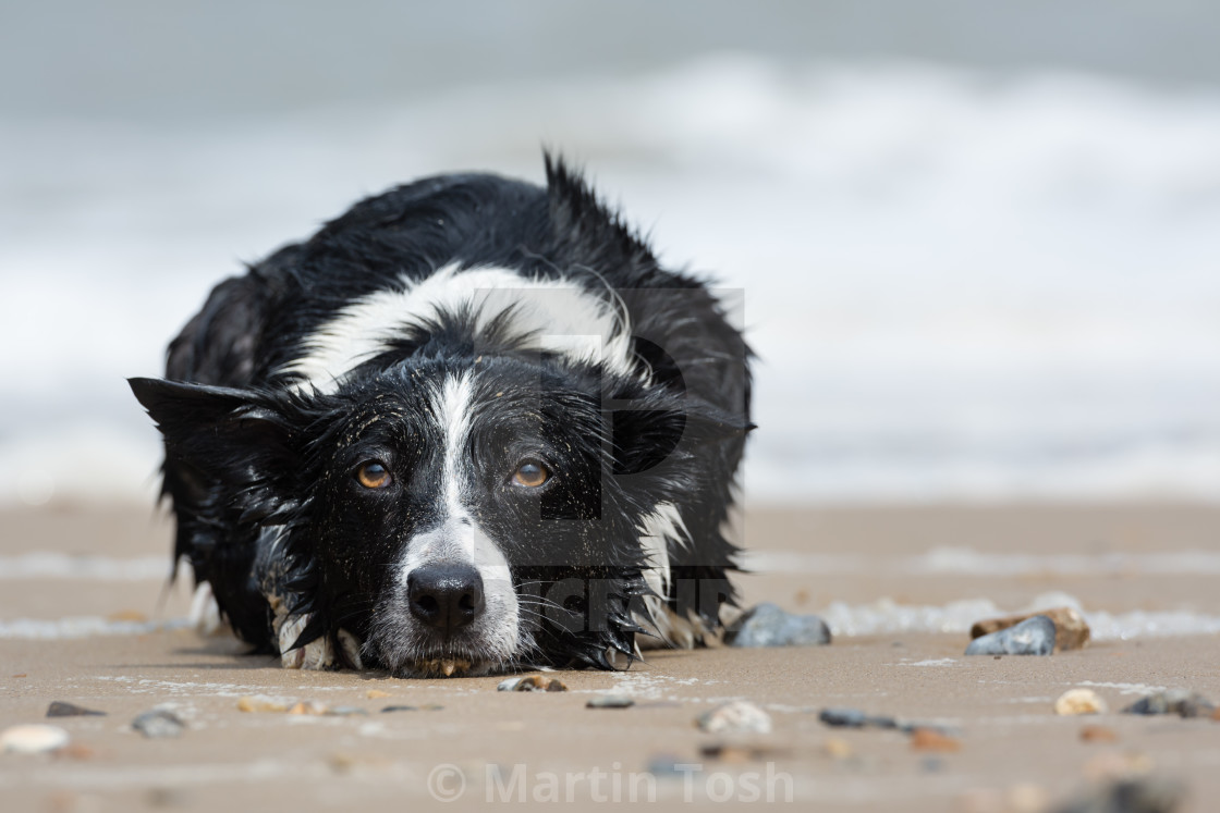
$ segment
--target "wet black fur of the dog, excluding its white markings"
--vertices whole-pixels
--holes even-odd
[[[439,439],[412,421],[426,408],[420,383],[471,364],[494,410],[475,438],[488,484],[478,516],[522,601],[521,661],[609,668],[608,650],[632,652],[631,608],[648,591],[637,522],[659,501],[678,506],[694,542],[671,551],[671,605],[682,583],[727,584],[736,547],[721,523],[749,428],[749,351],[704,283],[662,269],[576,174],[548,158],[547,180],[450,174],[364,200],[217,285],[170,345],[167,380],[132,380],[165,435],[174,556],[256,650],[278,651],[268,591],[315,613],[296,645],[340,627],[367,639],[378,602],[393,600],[387,564],[440,488]],[[454,261],[616,289],[655,385],[525,352],[508,330],[471,336],[468,314],[451,313],[395,336],[333,395],[288,389],[277,371],[336,311]],[[505,499],[497,478],[520,436],[561,457],[565,475]],[[371,450],[415,474],[393,494],[360,492],[351,472]],[[556,595],[571,623],[542,619]],[[699,609],[714,622],[714,607]]]

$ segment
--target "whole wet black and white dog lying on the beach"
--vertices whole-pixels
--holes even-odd
[[[221,283],[166,380],[131,382],[176,555],[256,650],[486,674],[716,628],[749,351],[575,173],[547,182],[361,201]]]

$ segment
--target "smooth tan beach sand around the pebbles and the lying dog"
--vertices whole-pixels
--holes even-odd
[[[769,509],[749,512],[742,528],[750,547],[767,555],[758,561],[782,570],[743,577],[745,603],[821,612],[834,601],[943,607],[987,598],[1019,608],[1063,591],[1110,613],[1220,616],[1216,574],[1207,567],[1141,572],[1155,569],[1149,563],[1161,555],[1220,551],[1216,508]],[[168,533],[143,509],[10,511],[0,514],[0,558],[11,566],[33,552],[66,552],[139,562],[163,553]],[[904,572],[930,551],[955,549],[1020,573]],[[1030,558],[997,558],[1014,553]],[[1082,562],[1097,567],[1077,567]],[[814,572],[819,564],[825,572]],[[159,616],[162,584],[134,577],[0,579],[0,624],[184,614],[184,585],[168,592]],[[0,809],[401,811],[431,809],[447,795],[456,795],[447,809],[467,809],[558,792],[587,807],[634,796],[705,809],[722,807],[720,800],[765,802],[771,793],[821,809],[1038,811],[1094,783],[1139,775],[1180,783],[1187,793],[1180,809],[1215,808],[1220,723],[1116,709],[1160,687],[1220,700],[1216,635],[1139,635],[999,659],[963,657],[966,642],[961,631],[889,630],[841,635],[826,647],[653,652],[626,673],[559,673],[567,692],[517,694],[497,692],[499,678],[290,672],[240,655],[231,637],[185,629],[0,637],[0,728],[48,722],[73,742],[57,754],[0,756]],[[1057,717],[1054,700],[1080,686],[1111,712]],[[636,706],[584,707],[606,691],[628,694]],[[238,711],[242,696],[256,694],[367,713]],[[773,731],[717,736],[695,728],[700,713],[734,698],[766,709]],[[107,715],[45,720],[56,700]],[[417,711],[379,711],[389,705]],[[440,708],[423,708],[429,705]],[[131,730],[132,718],[155,706],[187,723],[182,736],[148,740]],[[936,725],[949,730],[947,747],[955,750],[917,750],[898,730],[831,729],[819,722],[826,707]],[[1113,741],[1082,740],[1089,725]],[[709,752],[717,745],[732,747]]]

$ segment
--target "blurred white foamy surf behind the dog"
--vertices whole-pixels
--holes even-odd
[[[124,378],[356,197],[578,163],[743,304],[748,502],[1220,500],[1220,93],[717,52],[199,118],[0,117],[0,503],[146,500]]]

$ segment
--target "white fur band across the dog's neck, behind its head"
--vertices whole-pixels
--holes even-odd
[[[381,290],[351,302],[304,343],[305,355],[281,372],[301,377],[299,389],[333,392],[344,375],[386,350],[387,340],[440,312],[470,308],[476,334],[512,308],[509,322],[523,345],[580,362],[601,362],[631,374],[631,325],[614,291],[601,297],[567,279],[523,277],[508,268],[456,263],[403,290]]]

